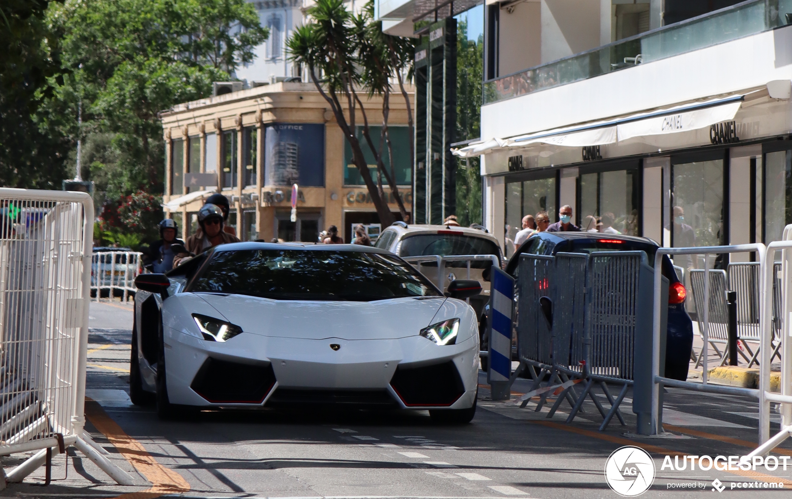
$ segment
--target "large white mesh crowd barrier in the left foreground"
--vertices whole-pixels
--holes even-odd
[[[9,482],[74,445],[132,483],[82,436],[92,239],[87,194],[0,189],[0,455],[39,451]]]

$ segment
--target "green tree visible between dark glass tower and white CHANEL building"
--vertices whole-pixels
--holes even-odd
[[[483,40],[467,39],[467,21],[457,29],[456,126],[459,140],[481,136]],[[463,226],[482,223],[479,158],[457,158],[456,216]]]

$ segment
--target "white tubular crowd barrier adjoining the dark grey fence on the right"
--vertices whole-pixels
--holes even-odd
[[[790,226],[792,227],[792,226]],[[775,244],[775,243],[771,243]],[[792,246],[792,243],[790,243]],[[654,263],[654,304],[653,304],[653,328],[652,328],[652,383],[651,383],[651,390],[652,390],[652,407],[651,407],[651,432],[653,434],[659,434],[663,431],[663,421],[662,421],[662,398],[661,392],[662,387],[676,387],[682,388],[686,390],[695,390],[695,391],[703,391],[703,392],[710,392],[716,394],[728,394],[728,395],[739,395],[749,398],[760,398],[760,390],[754,390],[751,388],[741,388],[741,387],[724,387],[719,385],[713,385],[708,383],[707,374],[709,371],[709,346],[710,346],[710,334],[713,335],[713,339],[718,338],[718,329],[712,329],[713,326],[712,322],[713,319],[718,320],[718,312],[716,310],[716,314],[710,314],[710,308],[714,308],[717,303],[711,299],[713,293],[721,295],[724,289],[721,289],[720,284],[712,285],[715,281],[712,276],[724,276],[725,272],[717,271],[710,269],[710,255],[716,254],[723,254],[723,253],[749,253],[753,252],[756,253],[757,260],[759,261],[759,268],[763,270],[767,270],[765,267],[765,246],[763,244],[743,244],[743,245],[735,245],[735,246],[699,246],[699,247],[692,247],[692,248],[658,248],[657,253],[655,253],[655,263]],[[703,284],[701,288],[703,288],[702,292],[698,293],[700,295],[700,299],[696,299],[696,310],[699,318],[701,319],[701,333],[703,337],[703,347],[701,352],[701,360],[703,365],[703,374],[702,374],[702,383],[691,383],[688,381],[680,381],[677,379],[668,379],[664,376],[661,376],[661,352],[664,349],[663,341],[665,337],[665,327],[661,323],[661,312],[663,311],[664,306],[667,304],[668,300],[668,291],[664,290],[664,277],[661,274],[661,261],[664,255],[703,255],[703,265],[704,269],[703,272],[698,272],[698,275],[702,277]],[[772,265],[769,265],[767,268],[772,269]],[[691,272],[691,277],[696,275],[697,271]],[[720,278],[718,278],[720,279]],[[763,280],[763,278],[762,278]],[[767,281],[769,282],[769,280]],[[713,291],[714,288],[715,291]],[[763,357],[767,357],[767,362],[762,362],[760,368],[764,369],[767,368],[768,375],[760,379],[760,383],[769,383],[769,356],[771,354],[771,348],[769,347],[771,339],[768,339],[768,334],[772,337],[772,331],[768,329],[770,325],[770,310],[771,307],[767,307],[767,299],[772,299],[772,289],[767,291],[766,283],[763,282],[763,285],[759,288],[759,295],[757,297],[758,302],[760,303],[760,316],[759,316],[759,332],[760,332],[760,352]],[[709,304],[709,306],[706,306]],[[717,324],[717,322],[716,322]],[[717,350],[716,350],[717,351]],[[767,364],[767,365],[765,365]],[[768,385],[769,387],[769,385]],[[636,393],[638,390],[636,389]],[[767,440],[767,432],[769,429],[769,406],[763,409],[763,406],[760,404],[760,442]],[[767,426],[767,429],[763,429]]]

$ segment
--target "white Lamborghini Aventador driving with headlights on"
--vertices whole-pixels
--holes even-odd
[[[135,284],[131,399],[161,417],[210,407],[294,404],[476,410],[478,326],[385,250],[240,242]]]

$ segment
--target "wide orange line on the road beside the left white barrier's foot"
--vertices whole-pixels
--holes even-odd
[[[138,470],[151,482],[150,489],[124,493],[116,499],[153,499],[166,493],[187,492],[190,489],[190,484],[182,478],[181,474],[158,463],[143,448],[143,444],[128,436],[116,421],[113,421],[101,406],[90,398],[86,398],[86,417],[97,430],[107,437],[111,444],[116,446],[120,455],[123,455],[124,459],[127,459],[135,467],[135,470]]]

